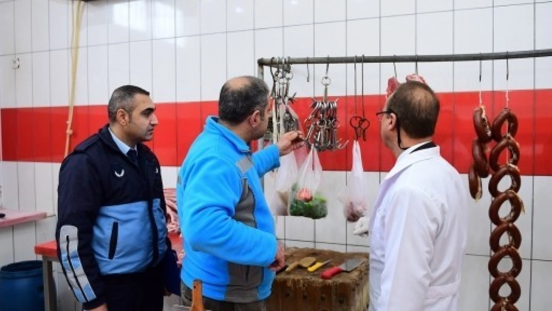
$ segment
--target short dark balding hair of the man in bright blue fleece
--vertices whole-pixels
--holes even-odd
[[[242,123],[255,110],[261,112],[264,119],[264,110],[268,104],[268,86],[263,80],[252,77],[238,77],[245,83],[235,85],[235,79],[224,83],[219,96],[219,118],[232,125]]]

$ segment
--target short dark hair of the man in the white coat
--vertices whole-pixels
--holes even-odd
[[[400,120],[401,128],[413,139],[433,136],[439,117],[439,99],[418,81],[407,81],[389,98],[387,109]]]

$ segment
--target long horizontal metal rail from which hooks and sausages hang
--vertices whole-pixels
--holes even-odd
[[[360,64],[382,62],[443,62],[443,61],[480,61],[480,60],[506,60],[527,59],[531,57],[552,56],[552,49],[512,51],[497,53],[477,54],[447,54],[447,55],[392,55],[392,56],[346,56],[346,57],[272,57],[257,60],[259,66],[278,66],[294,64]]]

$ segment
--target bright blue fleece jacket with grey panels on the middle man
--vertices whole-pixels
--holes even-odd
[[[277,241],[260,177],[279,166],[279,150],[272,145],[251,154],[245,141],[217,121],[207,118],[178,173],[181,277],[190,288],[201,280],[211,299],[266,299]]]

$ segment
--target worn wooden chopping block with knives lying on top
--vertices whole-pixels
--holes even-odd
[[[267,311],[365,311],[368,308],[367,253],[342,253],[296,247],[286,249],[288,262],[298,261],[307,256],[316,257],[317,261],[330,262],[314,272],[304,269],[280,272],[272,284]],[[339,273],[331,280],[323,280],[320,277],[322,272],[329,268],[354,258],[363,259],[364,262],[353,271]]]

